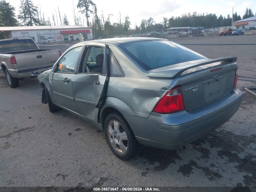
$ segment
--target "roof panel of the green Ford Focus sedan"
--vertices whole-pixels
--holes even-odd
[[[161,38],[149,38],[149,37],[120,37],[120,38],[108,38],[108,39],[97,39],[92,40],[93,42],[116,42],[119,44],[131,43],[131,42],[139,42],[139,41],[152,41],[152,40],[167,40]]]

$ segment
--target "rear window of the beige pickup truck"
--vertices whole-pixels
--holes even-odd
[[[0,52],[21,51],[27,49],[38,49],[32,39],[0,41]]]

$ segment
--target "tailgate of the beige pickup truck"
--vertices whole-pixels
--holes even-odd
[[[52,66],[60,56],[58,49],[20,53],[14,55],[17,62],[18,71]]]

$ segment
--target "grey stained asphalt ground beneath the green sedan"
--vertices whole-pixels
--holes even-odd
[[[121,161],[95,126],[50,113],[36,78],[12,89],[0,75],[0,186],[256,187],[256,97],[242,89],[255,83],[238,86],[243,103],[216,131],[179,150],[144,147]]]

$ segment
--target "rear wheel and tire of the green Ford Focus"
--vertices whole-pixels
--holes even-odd
[[[104,132],[108,147],[119,159],[129,160],[137,155],[140,144],[136,140],[131,127],[120,113],[110,113],[106,117]],[[124,140],[121,137],[124,137]]]

